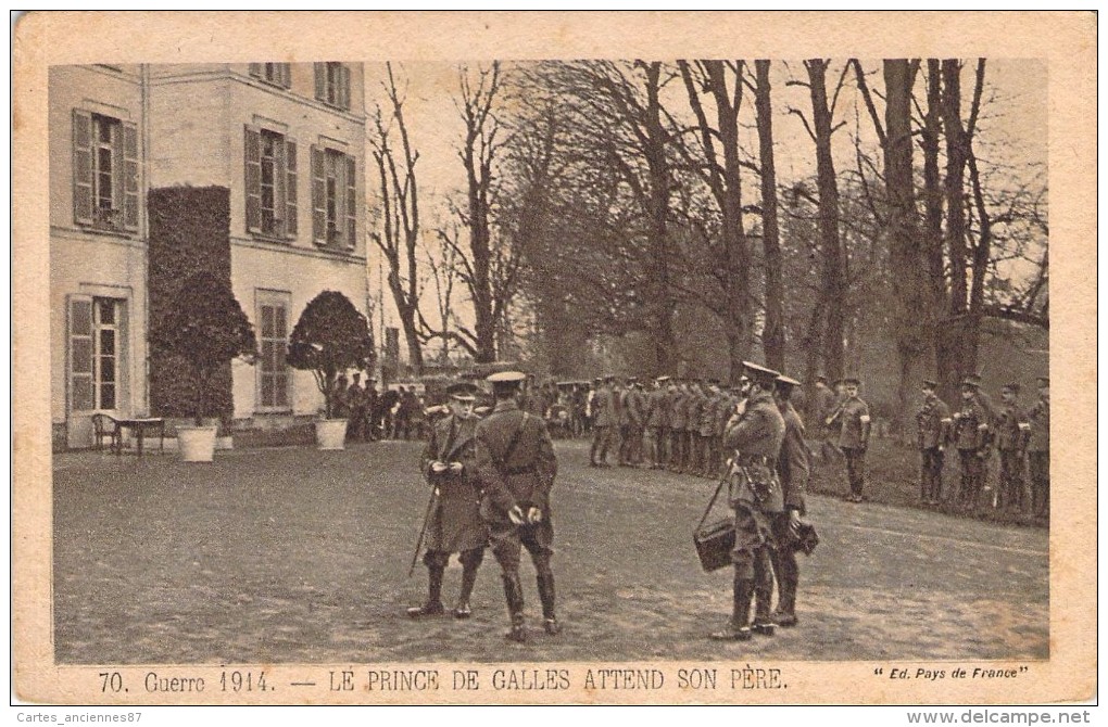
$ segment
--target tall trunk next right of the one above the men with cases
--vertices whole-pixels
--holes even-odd
[[[812,97],[812,126],[815,137],[815,170],[820,193],[819,239],[823,252],[823,288],[827,291],[827,328],[823,334],[823,362],[831,381],[842,378],[847,328],[847,249],[839,238],[839,185],[831,156],[831,111],[828,107],[828,62],[804,61]]]

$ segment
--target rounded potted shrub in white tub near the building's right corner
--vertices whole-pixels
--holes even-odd
[[[324,418],[316,422],[320,449],[342,449],[347,420],[336,418],[339,374],[349,368],[372,371],[373,334],[366,316],[340,292],[325,290],[300,313],[288,340],[288,365],[310,371],[324,395]]]

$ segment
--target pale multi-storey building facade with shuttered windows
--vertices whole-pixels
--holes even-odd
[[[96,412],[157,414],[145,202],[160,187],[230,193],[232,285],[261,354],[233,364],[236,425],[279,427],[321,408],[285,345],[322,290],[367,312],[362,73],[332,62],[51,69],[55,447],[91,445]]]

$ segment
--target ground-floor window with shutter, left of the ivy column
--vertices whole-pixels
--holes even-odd
[[[123,301],[70,299],[70,409],[115,409],[122,401],[120,359]]]

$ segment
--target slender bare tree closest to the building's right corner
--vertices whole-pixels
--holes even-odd
[[[370,237],[381,249],[389,266],[389,291],[397,305],[400,325],[408,344],[408,362],[417,371],[423,367],[423,352],[419,316],[419,185],[416,163],[419,152],[412,148],[404,124],[404,98],[397,89],[392,64],[384,64],[388,80],[381,85],[389,100],[389,111],[377,105],[373,112],[375,131],[369,138],[373,160],[377,162],[381,189],[380,230]],[[394,148],[392,134],[400,136],[400,147]],[[400,162],[397,162],[397,155]]]

